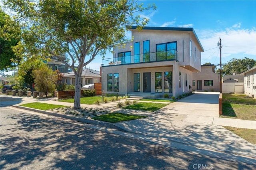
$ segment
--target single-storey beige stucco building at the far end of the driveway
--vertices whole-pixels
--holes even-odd
[[[201,72],[193,73],[194,91],[220,91],[220,75],[215,73],[215,65],[201,65]]]

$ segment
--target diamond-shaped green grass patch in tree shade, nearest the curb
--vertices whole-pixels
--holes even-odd
[[[98,120],[98,121],[116,123],[116,122],[122,122],[122,121],[130,121],[134,119],[141,119],[145,117],[147,116],[129,115],[129,114],[123,114],[123,113],[109,113],[109,114],[93,117],[92,119]]]

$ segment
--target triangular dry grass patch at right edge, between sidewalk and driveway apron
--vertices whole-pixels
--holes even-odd
[[[248,142],[250,142],[252,144],[256,144],[256,130],[255,129],[226,127],[226,126],[223,126],[223,127],[230,130],[234,134],[237,134],[241,138],[244,138]]]

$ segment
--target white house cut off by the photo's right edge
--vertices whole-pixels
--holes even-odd
[[[244,71],[244,94],[256,98],[256,66]]]

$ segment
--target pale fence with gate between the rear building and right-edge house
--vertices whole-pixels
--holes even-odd
[[[222,93],[244,94],[244,83],[222,83]]]

